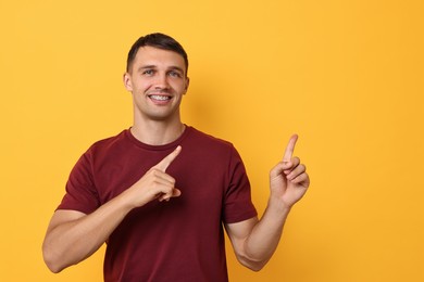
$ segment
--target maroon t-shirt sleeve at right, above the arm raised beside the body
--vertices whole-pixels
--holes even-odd
[[[224,203],[224,222],[235,223],[255,217],[258,213],[251,201],[250,182],[241,157],[234,146],[232,148],[228,179],[229,185],[225,193]]]

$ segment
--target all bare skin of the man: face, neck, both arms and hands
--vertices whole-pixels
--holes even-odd
[[[132,133],[153,145],[176,140],[185,128],[179,105],[189,86],[184,59],[172,51],[140,48],[123,80],[133,95]],[[255,271],[275,252],[291,207],[310,184],[304,165],[292,156],[297,139],[297,136],[291,137],[283,159],[270,172],[270,200],[261,220],[251,218],[225,225],[238,260]],[[179,196],[182,192],[175,188],[175,179],[166,174],[166,168],[182,150],[180,146],[175,149],[125,192],[89,215],[57,210],[42,244],[49,269],[60,272],[89,257],[132,209],[151,201],[172,201]]]

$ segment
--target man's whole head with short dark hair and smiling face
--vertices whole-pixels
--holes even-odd
[[[147,35],[133,44],[123,80],[133,94],[135,124],[180,121],[179,105],[189,86],[187,66],[183,47],[166,35]]]

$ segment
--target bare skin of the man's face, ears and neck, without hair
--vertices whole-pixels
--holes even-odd
[[[133,94],[132,133],[141,142],[160,145],[174,141],[184,130],[179,105],[189,86],[183,56],[152,47],[140,48],[125,88]],[[152,95],[170,98],[154,100]]]

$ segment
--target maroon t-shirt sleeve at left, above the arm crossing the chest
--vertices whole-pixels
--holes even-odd
[[[100,206],[92,177],[90,151],[75,164],[66,183],[66,193],[58,209],[72,209],[90,214]]]

